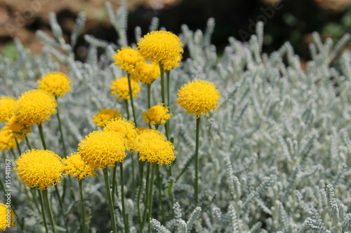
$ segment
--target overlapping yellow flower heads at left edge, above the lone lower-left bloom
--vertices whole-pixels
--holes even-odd
[[[69,78],[60,72],[49,72],[38,81],[38,89],[15,97],[0,98],[0,122],[6,125],[0,130],[0,150],[15,148],[20,139],[32,132],[32,125],[41,125],[57,112],[56,96],[65,96],[71,88]]]

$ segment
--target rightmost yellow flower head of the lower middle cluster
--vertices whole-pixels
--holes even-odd
[[[135,153],[139,154],[141,161],[171,165],[171,162],[176,160],[177,152],[166,136],[156,129],[145,129],[140,131],[135,139]]]

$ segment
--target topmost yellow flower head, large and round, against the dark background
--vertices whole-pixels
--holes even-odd
[[[152,62],[165,64],[179,59],[183,53],[180,38],[169,31],[151,31],[138,43],[140,54]]]

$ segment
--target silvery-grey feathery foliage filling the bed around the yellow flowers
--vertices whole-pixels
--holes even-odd
[[[72,90],[65,98],[58,98],[67,154],[77,151],[84,136],[100,129],[91,120],[100,109],[114,108],[127,118],[124,102],[110,94],[114,78],[124,76],[113,56],[116,50],[135,46],[143,34],[136,27],[134,40],[127,39],[128,12],[124,1],[116,11],[107,2],[106,9],[118,38],[110,43],[84,35],[89,45],[84,62],[74,59],[73,52],[84,28],[84,13],[79,13],[69,41],[62,37],[61,27],[51,13],[53,36],[37,31],[44,43],[40,55],[32,55],[15,38],[15,61],[0,56],[1,97],[18,97],[36,88],[37,80],[45,73],[67,70]],[[159,29],[166,30],[159,28],[155,17],[150,31]],[[223,54],[218,54],[211,44],[214,29],[212,18],[205,31],[192,31],[187,25],[181,28],[178,36],[189,57],[169,74],[168,107],[172,116],[168,121],[168,140],[176,148],[176,160],[171,164],[171,174],[167,165],[159,167],[159,176],[151,184],[152,219],[140,225],[143,221],[140,222],[139,212],[147,213],[147,203],[140,202],[138,195],[147,195],[149,180],[137,182],[141,187],[138,194],[132,177],[140,174],[135,174],[131,166],[138,166],[137,161],[126,157],[124,183],[119,184],[117,178],[118,185],[124,185],[124,192],[119,188],[112,192],[116,228],[125,230],[128,223],[129,232],[146,232],[150,222],[152,232],[351,231],[351,52],[345,50],[350,34],[335,45],[330,38],[322,41],[319,34],[312,34],[311,60],[303,68],[289,42],[270,54],[262,51],[262,22],[258,22],[256,34],[246,43],[228,38]],[[193,116],[176,104],[177,90],[192,80],[213,83],[221,96],[218,109],[202,115],[199,125],[197,204],[197,133]],[[160,92],[157,79],[152,84],[152,103],[159,104]],[[149,127],[143,122],[146,99],[146,90],[134,99],[137,114],[133,120],[139,127]],[[131,106],[128,108],[131,111]],[[52,118],[43,128],[48,148],[62,155],[58,120]],[[164,127],[159,128],[164,132]],[[37,128],[27,138],[32,148],[42,147]],[[20,143],[15,154],[27,149],[25,143]],[[1,164],[11,160],[15,167],[10,150],[1,155]],[[4,174],[5,165],[0,170]],[[99,176],[102,177],[101,171],[83,181],[86,232],[110,232],[114,222],[110,220],[105,183]],[[17,228],[8,228],[8,232],[46,232],[41,210],[34,203],[37,192],[25,188],[15,171],[11,177],[11,207],[17,215]],[[56,187],[48,192],[57,232],[82,232],[84,227],[77,224],[81,223],[82,214],[78,183],[65,176]],[[56,192],[61,199],[55,196]],[[4,202],[3,198],[0,202]]]

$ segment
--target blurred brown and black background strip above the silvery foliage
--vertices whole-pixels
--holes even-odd
[[[302,59],[309,59],[307,44],[311,33],[318,31],[322,38],[334,42],[351,31],[351,0],[127,0],[128,38],[134,41],[134,28],[140,26],[146,34],[152,17],[159,17],[160,26],[173,33],[180,33],[182,24],[192,29],[206,28],[209,17],[216,20],[212,43],[223,51],[227,38],[234,36],[247,41],[254,33],[256,22],[265,22],[265,52],[272,52],[285,41],[290,41]],[[119,0],[111,1],[114,10]],[[86,12],[85,34],[92,34],[106,41],[117,41],[117,34],[109,22],[105,0],[1,0],[0,1],[0,53],[14,54],[13,38],[41,52],[42,44],[35,36],[41,29],[51,34],[48,13],[53,11],[69,41],[74,20],[79,11]],[[83,38],[75,49],[77,59],[86,56]]]

